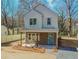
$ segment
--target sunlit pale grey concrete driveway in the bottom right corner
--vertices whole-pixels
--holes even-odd
[[[78,53],[74,51],[59,50],[56,59],[78,59]]]

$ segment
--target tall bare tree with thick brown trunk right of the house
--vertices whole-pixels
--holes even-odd
[[[57,7],[55,7],[55,8],[57,10],[58,15],[64,16],[64,18],[66,19],[67,34],[68,34],[68,36],[71,36],[72,35],[72,20],[75,19],[78,14],[78,12],[77,12],[78,3],[77,3],[77,0],[62,0],[62,2],[63,2],[63,5],[58,6],[59,8],[57,8]],[[62,11],[63,11],[64,15],[62,15]]]

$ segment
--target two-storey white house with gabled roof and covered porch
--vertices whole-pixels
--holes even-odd
[[[31,9],[24,18],[26,40],[58,47],[58,15],[43,4]]]

